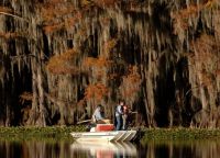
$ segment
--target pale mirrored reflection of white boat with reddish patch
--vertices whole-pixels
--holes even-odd
[[[88,153],[97,158],[113,158],[116,156],[136,157],[136,147],[132,143],[111,142],[76,142],[70,146],[72,151]]]

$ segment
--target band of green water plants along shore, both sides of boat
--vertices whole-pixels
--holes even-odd
[[[0,127],[0,140],[70,140],[70,132],[85,132],[86,126],[16,126]],[[140,142],[213,140],[220,139],[219,128],[146,128],[140,132]]]

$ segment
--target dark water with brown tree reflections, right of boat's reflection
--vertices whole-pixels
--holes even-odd
[[[219,140],[151,142],[139,148],[141,158],[219,158]]]

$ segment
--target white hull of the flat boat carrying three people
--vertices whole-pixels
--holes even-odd
[[[70,133],[77,142],[130,142],[136,131],[98,131],[91,128],[90,132]]]

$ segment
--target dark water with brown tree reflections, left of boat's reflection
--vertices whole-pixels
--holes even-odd
[[[65,142],[0,142],[1,158],[74,158],[69,153],[69,143]]]

